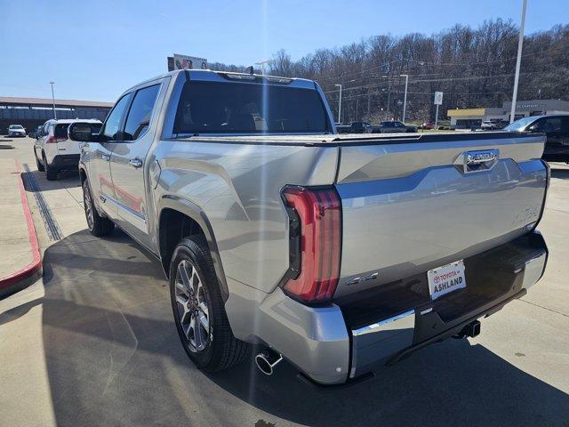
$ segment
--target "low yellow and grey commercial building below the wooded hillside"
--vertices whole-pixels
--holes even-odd
[[[501,107],[480,109],[449,109],[447,116],[451,125],[457,128],[477,127],[483,120],[504,120],[509,122],[512,102],[506,101]],[[542,114],[569,114],[569,101],[562,100],[532,100],[517,101],[515,119]]]

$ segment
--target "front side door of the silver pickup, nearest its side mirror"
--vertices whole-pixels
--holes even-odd
[[[108,113],[98,142],[83,146],[83,157],[88,161],[89,182],[92,197],[100,209],[112,219],[116,219],[116,195],[110,175],[110,157],[117,142],[122,141],[121,125],[131,93],[125,94]]]

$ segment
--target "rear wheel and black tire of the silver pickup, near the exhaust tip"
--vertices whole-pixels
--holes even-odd
[[[196,367],[217,372],[243,361],[249,345],[231,331],[203,236],[182,238],[176,246],[170,263],[170,296],[180,341]]]

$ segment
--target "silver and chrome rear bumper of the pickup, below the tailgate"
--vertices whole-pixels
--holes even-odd
[[[341,384],[458,334],[477,318],[523,296],[541,278],[547,258],[541,234],[530,233],[465,260],[466,289],[387,317],[368,318],[363,325],[362,317],[352,316],[347,307],[309,307],[293,301],[280,288],[259,301],[257,310],[244,308],[234,295],[229,296],[226,309],[237,337],[264,342],[315,383]],[[424,276],[426,280],[426,272]],[[394,306],[401,304],[397,301]],[[247,321],[246,312],[256,314]]]

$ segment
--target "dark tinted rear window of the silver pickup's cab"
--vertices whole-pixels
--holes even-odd
[[[288,86],[188,82],[173,133],[326,133],[317,91]]]

